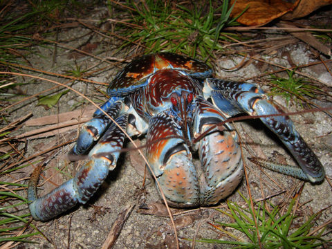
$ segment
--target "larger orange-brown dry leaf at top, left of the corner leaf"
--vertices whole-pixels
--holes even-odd
[[[235,0],[231,1],[234,4]],[[232,17],[237,17],[247,7],[246,12],[237,19],[240,24],[247,26],[262,26],[278,17],[282,17],[287,12],[293,11],[299,0],[295,3],[287,3],[282,0],[237,0],[232,10]]]

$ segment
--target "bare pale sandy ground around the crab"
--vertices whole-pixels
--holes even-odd
[[[73,38],[86,32],[82,28],[76,28],[68,33],[62,33],[59,35],[60,40],[66,40]],[[100,42],[96,39],[93,42]],[[77,47],[78,44],[82,44],[84,41],[78,40],[75,42],[68,42],[67,46]],[[108,44],[103,44],[100,42],[98,44],[98,51],[101,53],[98,57],[112,56],[112,49],[107,47]],[[75,68],[76,64],[80,65],[82,68],[90,68],[92,66],[102,67],[108,66],[107,70],[102,71],[98,75],[91,77],[90,80],[95,80],[98,82],[110,82],[113,79],[116,72],[120,70],[119,66],[114,66],[113,64],[100,64],[95,59],[89,57],[80,57],[73,59],[68,50],[63,48],[57,48],[57,56],[55,58],[55,64],[53,66],[53,55],[54,47],[48,46],[45,48],[36,48],[39,55],[43,57],[31,57],[30,62],[33,63],[35,68],[40,70],[46,70],[53,73],[64,73],[65,71],[72,70]],[[282,49],[287,50],[293,61],[297,65],[307,64],[309,62],[315,61],[311,50],[302,43],[295,45],[290,45]],[[286,57],[282,56],[282,50],[277,50],[275,54],[266,57],[270,62],[278,63],[283,66],[289,66]],[[104,51],[104,52],[103,52]],[[221,70],[221,68],[232,68],[236,65],[241,58],[239,57],[220,57],[216,62],[216,75],[217,77],[223,77],[232,80],[243,80],[250,77],[255,77],[261,74],[261,66],[256,62],[250,64],[249,66],[244,66],[238,71],[226,72]],[[331,68],[331,64],[329,65]],[[313,77],[320,78],[326,73],[324,66],[315,66],[311,68],[305,68],[305,73],[312,75]],[[37,74],[36,74],[37,75]],[[43,76],[45,77],[45,76]],[[65,80],[59,77],[50,77],[59,82],[65,82]],[[326,82],[331,83],[331,75],[326,77]],[[322,78],[324,80],[325,78]],[[26,91],[28,95],[33,95],[48,89],[54,84],[42,81],[42,80],[30,80],[27,77],[24,79],[30,84],[22,86],[22,90]],[[327,84],[327,83],[326,83]],[[100,104],[103,100],[106,100],[102,94],[95,91],[95,88],[106,89],[105,86],[98,86],[93,84],[87,84],[84,82],[75,82],[71,84],[74,89],[84,93],[89,98],[92,98],[95,102]],[[265,88],[265,87],[264,87]],[[275,102],[286,107],[286,103],[282,98],[274,98]],[[51,114],[66,113],[73,109],[82,109],[83,99],[77,96],[73,92],[69,92],[60,98],[58,104],[51,109],[46,110],[42,106],[37,106],[37,101],[35,99],[31,102],[24,103],[21,107],[17,108],[13,112],[15,116],[13,119],[22,116],[24,113],[32,112],[33,117],[44,117]],[[316,104],[320,107],[332,107],[330,102],[315,100]],[[81,104],[81,105],[80,105]],[[285,108],[286,109],[286,108]],[[299,110],[299,106],[291,104],[287,107],[289,111]],[[71,118],[71,117],[68,117]],[[292,119],[295,121],[295,125],[299,133],[304,136],[304,139],[311,146],[315,154],[320,158],[322,164],[325,167],[326,175],[332,177],[332,118],[323,112],[316,113],[306,113],[302,115],[293,116]],[[277,141],[275,136],[273,136],[270,131],[268,131],[264,126],[257,120],[250,120],[248,122],[237,122],[235,125],[239,129],[241,140],[243,141],[243,154],[244,158],[248,156],[266,156],[271,160],[284,160],[287,163],[294,164],[293,159],[290,154],[282,144]],[[28,130],[36,129],[36,127],[22,127],[19,133],[24,133]],[[74,130],[71,133],[60,133],[58,136],[51,136],[49,138],[40,138],[35,140],[28,140],[27,146],[27,156],[36,154],[38,151],[50,147],[50,145],[56,144],[63,140],[75,139],[77,132]],[[144,140],[142,141],[144,142]],[[52,176],[50,178],[53,183],[62,183],[62,181],[68,179],[65,174],[60,174],[54,167],[63,168],[63,171],[67,174],[73,176],[80,166],[80,163],[69,164],[66,161],[66,151],[71,148],[72,145],[67,147],[62,147],[59,154],[53,159],[45,171],[46,177]],[[135,151],[131,151],[127,154],[123,154],[118,161],[118,167],[110,172],[107,181],[103,183],[100,190],[93,196],[86,205],[78,205],[77,208],[67,212],[66,214],[59,216],[59,218],[48,222],[35,222],[35,225],[42,230],[42,232],[53,241],[53,246],[57,248],[100,248],[102,243],[107,237],[109,230],[113,222],[117,219],[118,214],[127,206],[135,205],[133,212],[131,212],[129,219],[124,224],[124,228],[120,233],[120,237],[113,248],[174,248],[174,232],[169,226],[169,217],[158,216],[158,215],[147,215],[140,214],[138,212],[140,206],[145,203],[156,203],[160,201],[156,187],[153,181],[147,179],[144,191],[142,190],[142,172],[138,174],[138,165],[143,164],[142,161],[134,154]],[[135,158],[136,160],[131,160]],[[283,192],[284,194],[279,194],[275,197],[273,201],[278,203],[281,201],[286,194],[289,194],[289,190],[294,187],[299,186],[302,182],[292,178],[290,176],[284,176],[282,174],[277,174],[264,169],[264,172],[256,166],[252,165],[249,160],[246,160],[246,167],[249,174],[249,183],[252,191],[253,199],[261,199],[264,196],[269,196],[271,194],[276,194]],[[140,165],[140,168],[141,165]],[[29,176],[33,168],[28,167],[26,172],[21,172],[21,177]],[[270,178],[276,181],[277,184],[273,183]],[[45,194],[49,192],[54,185],[46,183],[43,185],[42,189],[39,190],[39,194]],[[244,193],[246,196],[247,188],[245,181],[242,181],[239,185],[238,190]],[[229,197],[232,201],[237,201],[243,203],[243,200],[239,196],[239,193],[234,192],[232,196]],[[306,183],[300,203],[309,201],[305,208],[302,210],[306,211],[306,214],[311,214],[311,212],[317,212],[322,208],[326,208],[332,203],[331,186],[324,181],[319,185],[312,185]],[[225,205],[225,202],[221,202],[221,205]],[[98,209],[98,207],[100,207]],[[102,214],[96,214],[96,210],[102,210]],[[331,209],[326,210],[322,214],[322,223],[331,219]],[[202,210],[192,210],[192,212],[187,212],[181,216],[176,216],[178,219],[178,237],[180,239],[181,248],[189,248],[192,246],[192,241],[187,241],[186,239],[199,239],[199,238],[218,238],[219,235],[211,230],[211,225],[208,222],[214,221],[225,221],[225,217],[222,216],[218,211],[214,209],[202,209]],[[240,235],[243,236],[243,235]],[[39,242],[38,248],[53,248],[53,246],[43,239],[42,237],[35,238],[35,241]],[[69,242],[69,246],[68,246]],[[36,245],[25,244],[25,248],[35,248]],[[196,242],[195,248],[221,248],[219,246],[211,246],[206,243]]]

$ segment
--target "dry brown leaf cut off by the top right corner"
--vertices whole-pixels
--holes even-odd
[[[282,19],[296,19],[300,17],[305,17],[315,10],[332,4],[332,0],[301,0],[296,8],[288,12]]]

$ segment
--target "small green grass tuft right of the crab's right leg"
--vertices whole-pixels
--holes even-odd
[[[317,86],[313,86],[311,82],[302,78],[295,77],[294,71],[286,71],[288,78],[277,77],[271,75],[270,83],[273,85],[270,95],[281,95],[288,105],[290,101],[297,104],[306,102],[306,98],[315,98],[315,92],[319,91]]]

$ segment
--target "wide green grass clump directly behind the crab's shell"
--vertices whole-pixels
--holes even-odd
[[[113,2],[113,1],[111,1]],[[199,55],[208,59],[215,50],[223,50],[222,42],[230,42],[234,33],[223,33],[226,26],[234,26],[230,19],[232,6],[228,1],[212,1],[180,5],[172,1],[127,1],[129,15],[116,24],[125,37],[125,46],[140,46],[144,53],[160,51]]]

